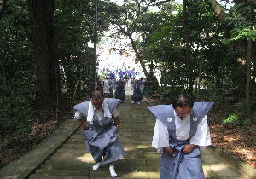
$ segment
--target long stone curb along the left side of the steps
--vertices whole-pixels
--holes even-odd
[[[28,178],[78,129],[79,124],[72,119],[64,121],[57,127],[53,134],[41,141],[31,151],[1,168],[0,178]]]

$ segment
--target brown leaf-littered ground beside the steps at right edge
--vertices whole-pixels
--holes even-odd
[[[256,124],[251,126],[212,124],[212,144],[256,168]]]

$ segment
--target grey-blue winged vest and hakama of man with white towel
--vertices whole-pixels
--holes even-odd
[[[113,111],[119,105],[120,100],[106,98],[109,111]],[[82,102],[73,108],[84,116],[87,116],[89,101]],[[118,128],[113,125],[113,122],[108,118],[103,118],[99,122],[94,115],[94,123],[89,125],[88,130],[84,130],[86,139],[87,151],[91,153],[96,163],[101,162],[108,164],[125,156],[124,147],[119,140]]]

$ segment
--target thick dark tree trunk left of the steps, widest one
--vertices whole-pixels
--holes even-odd
[[[60,68],[55,57],[54,1],[27,0],[31,18],[35,71],[37,79],[37,108],[57,117],[66,104],[61,98]],[[61,104],[61,106],[60,106]]]

